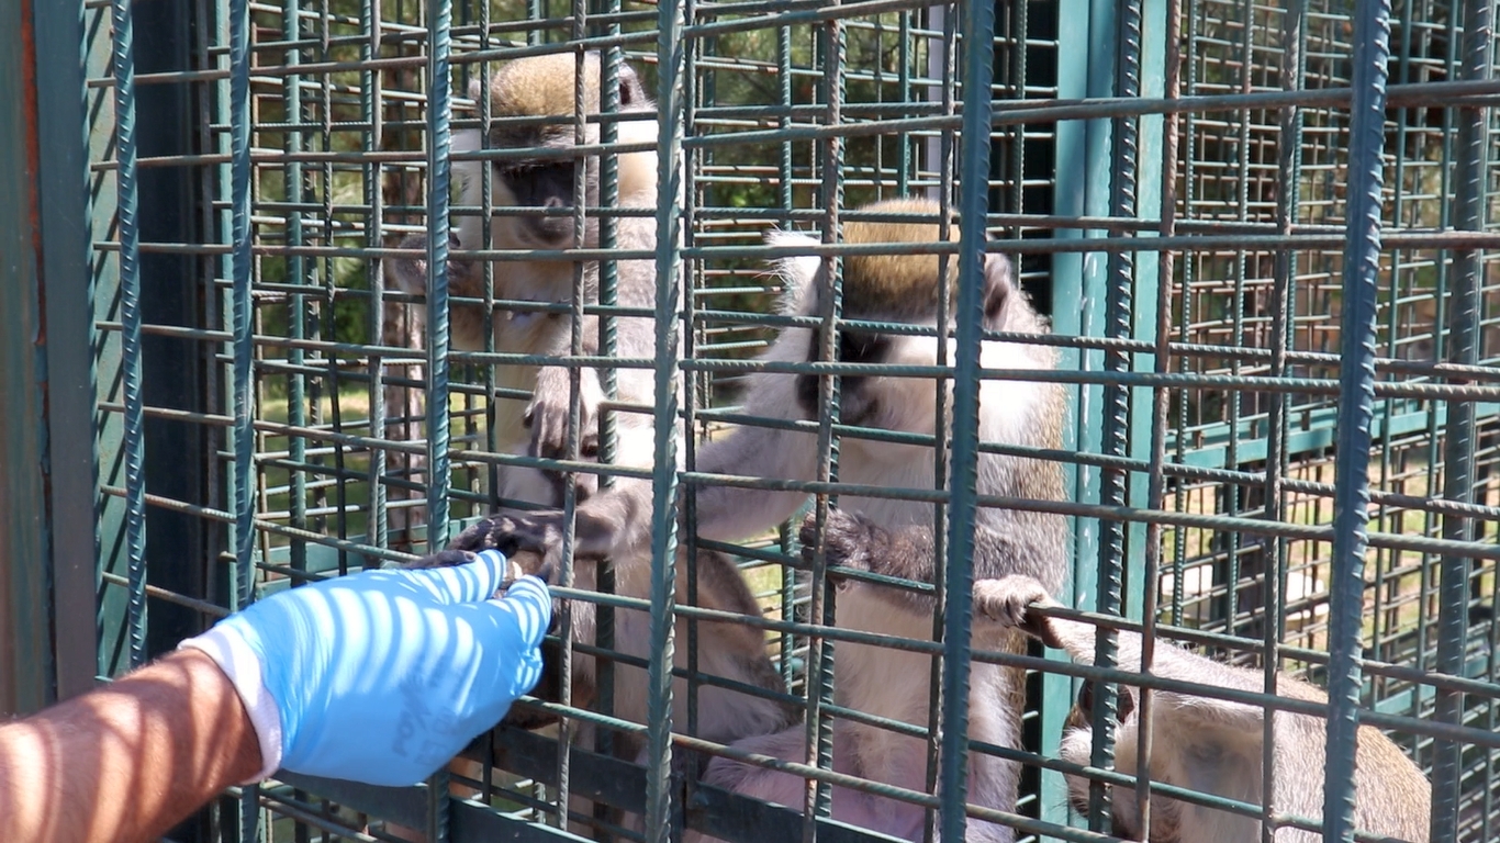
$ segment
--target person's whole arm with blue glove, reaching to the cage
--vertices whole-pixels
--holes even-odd
[[[278,768],[412,784],[536,684],[546,586],[498,554],[292,588],[0,728],[0,840],[142,840]]]

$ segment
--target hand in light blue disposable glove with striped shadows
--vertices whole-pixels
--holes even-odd
[[[412,784],[494,726],[542,675],[552,616],[542,580],[495,550],[429,570],[378,570],[291,588],[182,646],[230,676],[264,766]]]

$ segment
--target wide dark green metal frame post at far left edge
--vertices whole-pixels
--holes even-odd
[[[94,684],[93,314],[78,9],[16,3],[0,34],[0,710]],[[56,66],[54,66],[56,64]],[[39,104],[45,104],[40,106]]]

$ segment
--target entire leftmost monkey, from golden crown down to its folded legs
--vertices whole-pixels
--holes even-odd
[[[573,54],[552,54],[510,62],[500,68],[489,82],[490,114],[496,118],[486,138],[489,148],[522,150],[538,148],[534,159],[504,158],[494,162],[492,204],[495,207],[524,207],[544,212],[572,212],[574,189],[574,166],[586,166],[586,202],[598,204],[598,158],[560,158],[574,147],[574,128],[566,124],[536,124],[536,120],[514,124],[502,118],[546,117],[572,114],[576,104]],[[588,114],[600,111],[600,57],[585,54]],[[646,98],[634,70],[622,66],[618,75],[621,112],[654,114],[656,105]],[[486,92],[478,82],[472,96]],[[621,142],[656,140],[656,122],[622,122]],[[471,132],[454,136],[454,147],[477,148],[480,138]],[[585,142],[598,141],[598,124],[590,123]],[[656,207],[656,162],[654,152],[622,153],[620,159],[620,206]],[[454,172],[462,184],[462,204],[480,206],[483,182],[482,162],[456,162]],[[466,249],[476,249],[483,242],[484,220],[464,218],[456,226],[454,242]],[[562,249],[574,243],[572,213],[549,213],[531,216],[496,216],[489,220],[490,244],[495,249]],[[598,244],[598,220],[588,218],[582,246]],[[621,218],[618,220],[618,246],[622,249],[656,248],[656,224],[650,218]],[[426,238],[414,236],[405,248],[424,249]],[[454,260],[448,266],[452,286],[456,294],[483,297],[483,267],[477,261]],[[498,261],[495,264],[495,296],[498,298],[532,300],[543,303],[570,302],[573,296],[572,261]],[[585,303],[597,303],[598,266],[584,264]],[[426,290],[426,266],[423,261],[396,261],[390,267],[396,285],[408,291]],[[618,304],[624,308],[651,309],[656,304],[654,261],[620,261]],[[483,348],[484,316],[482,308],[454,308],[452,312],[452,334],[458,348]],[[597,352],[597,318],[585,316],[585,352]],[[651,357],[654,354],[654,322],[650,318],[616,320],[618,352],[621,357]],[[572,322],[566,314],[512,314],[494,320],[494,344],[502,352],[567,356],[570,352]],[[514,402],[501,402],[495,412],[495,435],[501,448],[532,456],[562,456],[568,417],[568,378],[562,368],[500,366],[498,381],[502,387],[532,388],[534,398],[525,412]],[[597,422],[603,390],[594,369],[582,369],[582,418],[584,432],[580,458],[597,460]],[[621,369],[618,376],[621,402],[652,404],[654,381],[650,369]],[[618,465],[650,466],[654,454],[651,418],[638,412],[621,414]],[[530,429],[530,435],[528,435]],[[594,489],[594,476],[582,476],[578,500],[586,501]],[[621,484],[639,480],[618,478]],[[501,474],[501,496],[540,506],[562,506],[562,489],[555,477],[531,468],[506,466]],[[507,510],[502,510],[507,512]],[[418,567],[458,564],[466,560],[462,552],[440,552],[414,562]],[[690,564],[680,554],[676,564]],[[687,576],[681,573],[676,598],[684,604],[698,606],[760,618],[760,608],[750,592],[734,561],[714,552],[696,555],[698,591],[687,594]],[[627,597],[650,597],[650,556],[646,564],[620,567],[616,592]],[[597,561],[578,566],[574,586],[597,590]],[[592,645],[596,642],[597,608],[590,602],[573,602],[570,624],[573,639]],[[555,614],[561,618],[561,612]],[[555,622],[558,622],[555,620]],[[680,639],[687,640],[687,621],[680,621]],[[555,632],[555,630],[554,630]],[[645,660],[648,648],[650,618],[638,609],[615,609],[616,650]],[[560,651],[555,642],[543,648],[544,670],[537,694],[556,700],[561,684],[558,675]],[[676,668],[687,668],[687,646],[676,650]],[[796,710],[776,694],[786,694],[786,684],[776,670],[766,652],[765,634],[752,626],[734,622],[699,621],[698,624],[699,670],[728,678],[742,686],[770,692],[764,696],[741,693],[718,686],[704,684],[698,690],[699,735],[714,741],[777,730],[796,717]],[[636,723],[646,722],[646,670],[618,663],[614,670],[614,716]],[[573,657],[572,688],[574,705],[591,705],[597,694],[597,669],[592,656]],[[686,718],[687,686],[678,680],[675,699],[678,717]],[[554,720],[550,716],[534,716],[513,710],[506,723],[519,728],[538,728]],[[590,724],[580,724],[579,746],[592,748]],[[634,758],[644,752],[640,738],[621,734],[615,740],[615,752],[622,758]]]

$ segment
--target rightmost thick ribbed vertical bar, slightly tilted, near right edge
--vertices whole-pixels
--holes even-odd
[[[1456,15],[1455,15],[1456,16]],[[1462,54],[1460,78],[1485,80],[1491,75],[1490,51],[1494,45],[1494,2],[1464,3]],[[1485,192],[1490,182],[1486,108],[1460,110],[1454,184],[1454,226],[1482,231]],[[1449,363],[1473,366],[1479,362],[1479,290],[1484,284],[1482,254],[1478,249],[1454,252],[1454,285],[1449,290],[1448,354]],[[1474,498],[1476,406],[1472,400],[1448,405],[1446,447],[1443,452],[1443,498],[1470,502]],[[1473,522],[1462,514],[1443,516],[1443,537],[1473,540]],[[1468,638],[1470,560],[1458,554],[1442,558],[1437,604],[1437,669],[1461,676]],[[1464,694],[1438,688],[1434,718],[1440,723],[1464,722]],[[1432,747],[1432,834],[1436,840],[1458,836],[1462,795],[1462,746],[1434,741]]]

